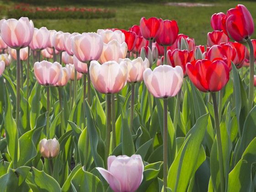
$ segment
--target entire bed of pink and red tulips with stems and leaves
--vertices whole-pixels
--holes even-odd
[[[214,14],[211,25],[215,31],[208,33],[205,48],[178,34],[176,21],[155,17],[143,17],[129,31],[82,34],[37,29],[25,17],[1,20],[0,49],[5,53],[9,47],[17,61],[16,75],[11,69],[3,72],[3,66],[12,66],[10,57],[1,55],[3,189],[103,191],[110,190],[107,181],[115,192],[253,190],[254,23],[238,5],[226,15]],[[37,61],[33,69],[30,53]],[[247,102],[237,69],[248,62]],[[12,179],[13,174],[22,178]]]

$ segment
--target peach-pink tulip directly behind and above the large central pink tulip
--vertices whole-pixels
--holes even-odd
[[[99,61],[101,64],[107,61],[118,61],[118,59],[124,59],[127,54],[127,44],[125,42],[118,43],[117,40],[112,40],[109,43],[103,43],[103,51]]]

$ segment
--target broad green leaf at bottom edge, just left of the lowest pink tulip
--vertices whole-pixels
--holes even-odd
[[[83,168],[81,167],[71,179],[72,189],[76,192],[102,192],[101,180]]]

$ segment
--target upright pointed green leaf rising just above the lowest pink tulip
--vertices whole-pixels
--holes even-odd
[[[122,153],[123,155],[132,156],[135,153],[132,133],[128,126],[127,115],[121,106],[121,118],[122,118]]]

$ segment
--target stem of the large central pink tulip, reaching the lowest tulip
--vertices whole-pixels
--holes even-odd
[[[106,95],[107,101],[107,131],[106,131],[106,148],[105,148],[105,168],[107,168],[107,158],[109,155],[109,147],[110,147],[110,132],[111,132],[111,95]]]

